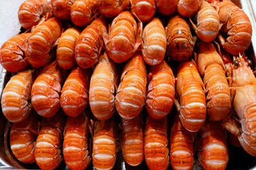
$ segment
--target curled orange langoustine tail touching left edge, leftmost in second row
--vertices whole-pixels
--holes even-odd
[[[25,57],[27,40],[31,33],[16,35],[1,46],[0,64],[9,72],[18,72],[28,66]]]

